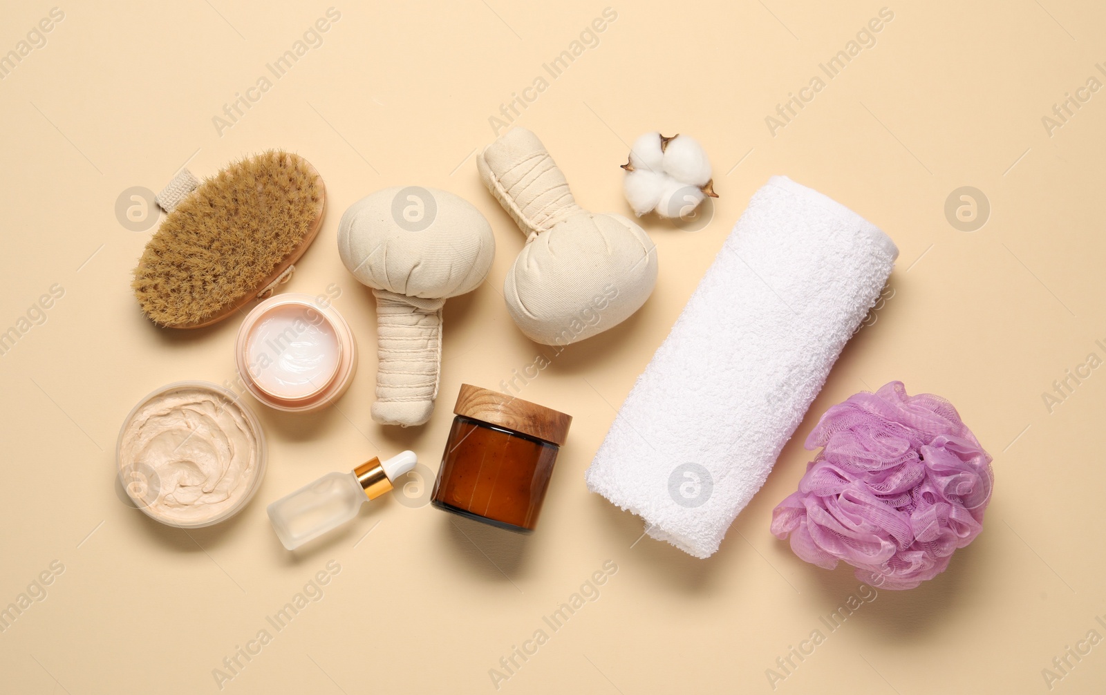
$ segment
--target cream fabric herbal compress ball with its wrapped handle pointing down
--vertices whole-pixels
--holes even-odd
[[[410,186],[361,199],[338,223],[338,254],[373,288],[379,367],[373,420],[430,419],[441,366],[441,307],[488,276],[495,238],[488,220],[447,191]]]

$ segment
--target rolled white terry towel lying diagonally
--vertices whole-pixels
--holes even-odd
[[[769,180],[626,397],[588,489],[641,516],[654,538],[711,556],[897,256],[841,203]]]

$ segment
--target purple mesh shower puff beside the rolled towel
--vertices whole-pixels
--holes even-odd
[[[772,512],[772,533],[800,558],[885,589],[912,589],[983,529],[991,456],[957,409],[901,381],[833,406],[806,438],[822,451],[799,491]]]

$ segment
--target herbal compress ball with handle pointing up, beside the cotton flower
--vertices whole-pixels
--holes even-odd
[[[618,325],[657,282],[657,250],[620,214],[576,204],[541,140],[513,128],[477,157],[480,178],[526,234],[503,282],[507,310],[523,334],[568,345]]]

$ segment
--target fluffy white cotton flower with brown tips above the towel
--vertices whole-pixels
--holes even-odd
[[[634,141],[623,169],[626,200],[637,217],[687,217],[708,196],[718,198],[707,152],[687,135],[646,133]]]

